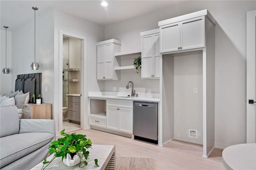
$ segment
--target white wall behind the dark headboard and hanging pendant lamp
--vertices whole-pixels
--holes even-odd
[[[42,98],[44,103],[53,104],[53,11],[36,13],[36,62],[39,70],[31,70],[34,62],[34,19],[12,32],[12,80],[15,88],[17,74],[42,72]],[[48,92],[45,92],[45,87]]]

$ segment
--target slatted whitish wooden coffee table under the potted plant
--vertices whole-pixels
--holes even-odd
[[[88,165],[85,168],[76,166],[66,166],[62,163],[61,157],[55,158],[45,169],[46,170],[114,170],[116,160],[116,147],[114,145],[92,145],[92,148],[86,149],[90,152]],[[50,161],[53,154],[47,158]],[[94,159],[98,159],[98,165],[95,166]],[[42,161],[43,162],[43,161]],[[32,170],[41,170],[43,163],[40,162]]]

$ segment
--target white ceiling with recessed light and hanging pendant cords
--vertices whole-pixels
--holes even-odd
[[[101,6],[101,2],[102,0],[0,0],[1,29],[6,25],[12,31],[19,25],[34,19],[33,6],[38,7],[36,16],[54,8],[100,25],[110,25],[178,4],[181,1],[106,0],[108,2],[106,7]]]

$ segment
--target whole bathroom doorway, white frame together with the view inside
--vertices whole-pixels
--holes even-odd
[[[58,61],[58,124],[59,133],[86,128],[87,38],[67,31],[59,31]]]

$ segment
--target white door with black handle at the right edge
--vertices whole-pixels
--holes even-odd
[[[255,104],[249,104],[250,100],[256,100],[256,69],[255,69],[255,31],[256,10],[246,14],[246,143],[256,143],[256,115]]]

